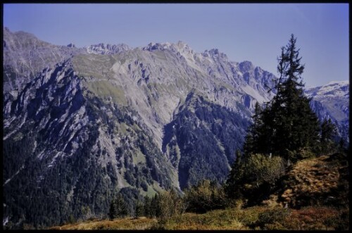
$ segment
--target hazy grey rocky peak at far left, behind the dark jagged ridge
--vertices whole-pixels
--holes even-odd
[[[27,82],[34,79],[48,66],[86,53],[84,49],[56,46],[27,32],[4,30],[4,92],[20,92]],[[13,92],[15,91],[15,92]],[[16,96],[15,96],[16,97]]]

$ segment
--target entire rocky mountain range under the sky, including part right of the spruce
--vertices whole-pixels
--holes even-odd
[[[5,27],[3,45],[3,224],[13,228],[104,216],[119,191],[223,182],[255,103],[275,95],[272,73],[184,42],[77,48]],[[344,139],[348,87],[306,90]]]

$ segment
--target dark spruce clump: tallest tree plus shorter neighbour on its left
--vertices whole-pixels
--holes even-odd
[[[256,107],[253,125],[246,137],[244,151],[285,156],[287,159],[302,148],[315,149],[319,143],[320,125],[303,94],[299,49],[291,34],[289,44],[283,46],[277,58],[279,78],[275,80],[277,94],[263,111]]]

